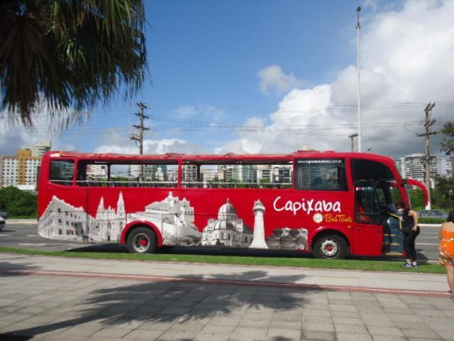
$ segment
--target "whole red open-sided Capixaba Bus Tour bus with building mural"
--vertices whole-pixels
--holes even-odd
[[[321,258],[402,252],[409,204],[392,158],[371,153],[121,155],[51,151],[39,180],[38,232],[49,239],[287,249]]]

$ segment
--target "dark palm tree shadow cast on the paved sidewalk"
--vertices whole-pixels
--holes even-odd
[[[215,280],[267,281],[294,283],[303,278],[298,276],[268,276],[265,271],[248,271],[235,276],[215,274]],[[74,306],[72,318],[60,319],[55,323],[35,328],[13,330],[9,335],[34,336],[57,330],[80,328],[149,328],[168,330],[175,325],[204,323],[216,318],[280,312],[295,313],[307,303],[304,291],[299,288],[278,288],[240,284],[213,284],[200,281],[204,276],[186,277],[182,281],[154,281],[118,285],[118,281],[106,281],[106,288],[94,290]],[[73,303],[69,303],[73,304]],[[45,312],[44,312],[45,313]],[[0,335],[1,340],[1,335]],[[184,340],[181,338],[179,340]],[[189,337],[188,340],[191,340]],[[288,340],[284,335],[275,339]]]

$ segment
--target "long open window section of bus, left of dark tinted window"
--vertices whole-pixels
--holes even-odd
[[[183,165],[186,188],[292,188],[292,161]]]

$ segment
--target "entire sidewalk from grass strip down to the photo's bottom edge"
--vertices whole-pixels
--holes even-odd
[[[445,281],[0,254],[0,340],[454,340]]]

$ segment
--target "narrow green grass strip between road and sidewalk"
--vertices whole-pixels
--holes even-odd
[[[171,261],[182,263],[205,264],[234,264],[258,266],[292,266],[311,269],[341,269],[361,271],[395,271],[416,272],[423,274],[446,274],[445,268],[438,264],[420,264],[418,268],[402,269],[401,262],[371,261],[358,259],[314,259],[290,257],[251,257],[251,256],[223,256],[198,254],[127,254],[108,252],[77,252],[77,251],[39,251],[31,249],[16,249],[0,247],[0,252],[10,254],[27,254],[33,256],[59,256],[85,259],[114,259],[133,261]]]

